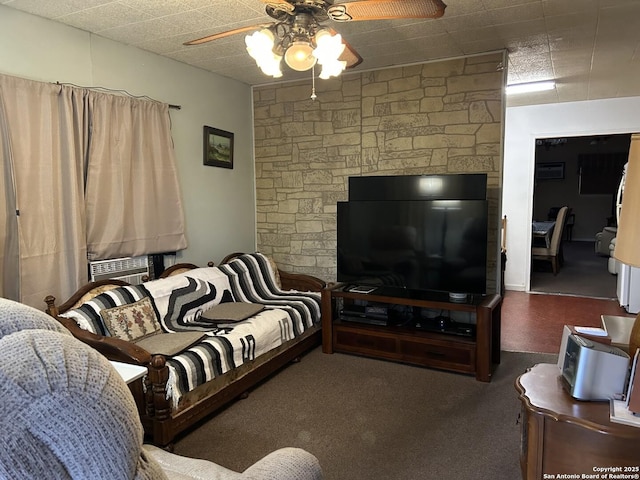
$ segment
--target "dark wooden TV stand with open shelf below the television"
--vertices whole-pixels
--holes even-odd
[[[418,328],[415,321],[384,324],[366,313],[361,321],[345,321],[341,307],[345,304],[375,304],[408,309],[440,309],[475,314],[475,331],[430,331]],[[500,363],[500,309],[497,294],[470,296],[467,302],[450,302],[448,295],[429,295],[374,290],[371,293],[350,291],[344,284],[333,284],[322,292],[322,351],[351,353],[413,365],[475,374],[476,380],[489,382],[493,365]],[[344,318],[344,320],[343,320]]]

